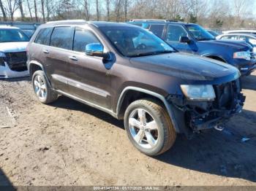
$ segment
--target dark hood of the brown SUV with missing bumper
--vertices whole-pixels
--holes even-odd
[[[227,63],[182,52],[130,58],[130,62],[140,69],[185,80],[212,81],[212,84],[240,76],[238,69]]]

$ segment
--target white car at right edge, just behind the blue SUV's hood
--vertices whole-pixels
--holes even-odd
[[[252,45],[254,52],[256,52],[256,34],[221,34],[217,39],[242,40]]]

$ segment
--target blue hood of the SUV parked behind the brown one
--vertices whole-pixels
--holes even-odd
[[[225,47],[231,47],[236,50],[247,51],[251,50],[252,47],[244,41],[232,41],[232,40],[209,40],[209,41],[199,41],[202,44],[212,44],[212,45],[219,45]]]

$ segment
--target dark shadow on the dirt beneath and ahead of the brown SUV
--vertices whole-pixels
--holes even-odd
[[[123,121],[65,96],[59,97],[51,106],[86,112],[124,129]],[[208,130],[190,141],[178,135],[169,151],[154,158],[193,171],[256,182],[255,124],[256,112],[244,110],[233,117],[223,131]],[[249,141],[244,142],[243,138],[249,138]]]

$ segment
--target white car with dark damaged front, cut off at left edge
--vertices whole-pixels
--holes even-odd
[[[0,78],[25,77],[29,37],[19,28],[0,26]]]

